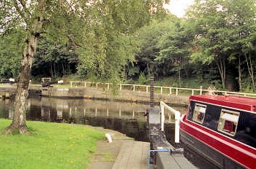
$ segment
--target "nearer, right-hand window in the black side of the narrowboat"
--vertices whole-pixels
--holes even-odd
[[[222,109],[219,117],[218,130],[228,135],[235,135],[238,118],[239,112]]]

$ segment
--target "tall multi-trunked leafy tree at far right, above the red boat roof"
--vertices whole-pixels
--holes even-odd
[[[196,28],[193,45],[197,50],[192,53],[192,60],[215,63],[222,88],[225,88],[227,68],[231,65],[238,65],[240,90],[242,63],[248,63],[249,76],[254,79],[249,53],[253,51],[251,40],[255,34],[255,1],[198,0],[189,9],[187,19]],[[255,86],[253,81],[252,86]]]

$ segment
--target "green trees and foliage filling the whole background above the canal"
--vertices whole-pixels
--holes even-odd
[[[84,2],[83,15],[79,7],[71,12],[62,5],[48,18],[31,75],[140,83],[151,75],[175,76],[177,86],[194,78],[199,84],[255,92],[254,0],[196,0],[184,18],[164,12],[162,3]],[[18,76],[23,28],[11,28],[1,31],[1,77]]]

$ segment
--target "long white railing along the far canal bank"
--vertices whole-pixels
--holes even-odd
[[[78,85],[82,84],[82,85]],[[103,83],[103,82],[70,82],[70,87],[86,87],[88,84],[91,84],[91,86],[99,87],[99,84],[103,84],[108,90],[110,89],[110,84],[112,83]],[[149,92],[149,85],[142,85],[142,84],[118,84],[119,90],[124,90],[125,87],[131,87],[132,91],[142,91],[142,92]],[[195,95],[195,93],[198,93],[202,95],[203,93],[209,93],[209,90],[203,89],[203,87],[200,87],[199,89],[193,89],[193,88],[184,88],[184,87],[164,87],[164,86],[154,86],[155,89],[158,89],[158,93],[163,94],[166,93],[168,95],[178,95],[179,91],[188,91],[191,93],[191,95]],[[165,90],[165,91],[164,91]],[[157,93],[156,92],[156,93]],[[222,90],[212,90],[213,93],[222,93],[222,94],[231,94],[231,95],[244,95],[244,96],[256,96],[256,93],[237,93],[237,92],[228,92],[228,91],[222,91]]]

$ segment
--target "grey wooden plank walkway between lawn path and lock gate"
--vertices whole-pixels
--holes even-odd
[[[146,169],[149,143],[125,141],[112,169]]]

